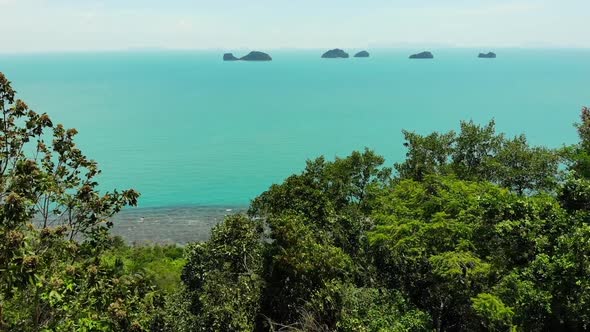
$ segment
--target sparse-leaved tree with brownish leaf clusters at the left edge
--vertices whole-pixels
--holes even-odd
[[[100,260],[109,218],[139,195],[101,194],[76,130],[30,110],[1,73],[0,113],[0,330],[147,329],[152,287]]]

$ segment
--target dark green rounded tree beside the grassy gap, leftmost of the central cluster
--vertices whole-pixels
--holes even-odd
[[[182,281],[196,316],[193,331],[252,331],[263,287],[262,228],[236,215],[216,226],[211,239],[188,249]]]

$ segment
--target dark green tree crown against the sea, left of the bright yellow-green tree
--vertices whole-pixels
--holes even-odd
[[[308,161],[301,174],[254,199],[249,215],[266,220],[271,230],[283,217],[297,221],[321,235],[322,243],[342,249],[365,265],[361,262],[372,259],[367,251],[366,231],[373,227],[368,216],[391,180],[391,169],[383,163],[383,157],[369,149],[332,162],[323,157]],[[363,268],[359,273],[365,274],[362,280],[368,280],[371,272]]]

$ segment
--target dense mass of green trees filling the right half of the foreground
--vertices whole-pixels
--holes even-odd
[[[585,330],[590,186],[558,172],[563,152],[494,122],[404,134],[397,178],[365,150],[309,161],[252,202],[255,330]]]

